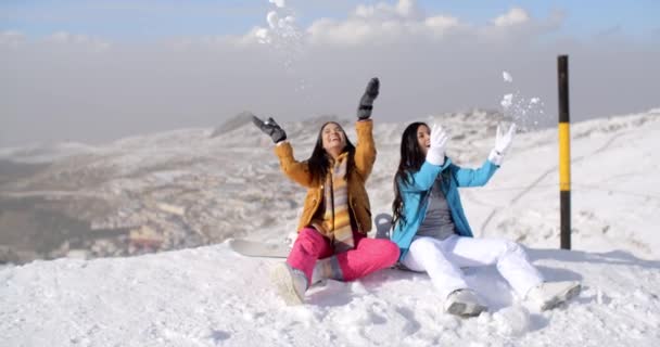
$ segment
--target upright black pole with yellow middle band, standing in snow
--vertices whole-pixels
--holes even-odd
[[[569,120],[569,56],[557,57],[559,81],[559,210],[561,213],[560,243],[571,249],[571,133]]]

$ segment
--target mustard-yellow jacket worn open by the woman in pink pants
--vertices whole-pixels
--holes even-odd
[[[359,120],[355,124],[357,132],[357,145],[355,147],[354,163],[348,176],[348,208],[352,221],[357,231],[366,234],[371,230],[371,206],[369,196],[365,189],[365,182],[371,174],[376,162],[376,145],[373,143],[373,121]],[[275,154],[280,159],[282,171],[293,181],[307,188],[307,196],[303,207],[297,230],[309,226],[314,214],[319,208],[323,198],[323,180],[312,177],[307,162],[297,162],[293,157],[293,149],[289,142],[275,146]],[[331,235],[326,235],[331,237]]]

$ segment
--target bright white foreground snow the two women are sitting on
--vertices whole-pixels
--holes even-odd
[[[532,249],[549,280],[580,280],[568,307],[538,312],[492,268],[468,281],[492,311],[443,314],[426,274],[385,270],[313,287],[285,307],[276,260],[225,244],[132,258],[36,261],[0,270],[3,346],[658,346],[660,261],[623,252]]]

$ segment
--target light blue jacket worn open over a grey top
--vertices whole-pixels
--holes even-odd
[[[478,169],[465,169],[454,165],[449,158],[445,157],[445,163],[441,166],[424,162],[419,171],[409,174],[410,183],[398,180],[396,183],[404,203],[402,213],[406,219],[405,222],[399,220],[396,223],[391,239],[401,249],[399,260],[408,253],[412,237],[427,216],[431,188],[439,175],[442,177],[440,189],[445,194],[447,205],[449,205],[456,232],[461,236],[472,237],[472,230],[460,204],[458,187],[484,185],[497,168],[499,166],[486,160]]]

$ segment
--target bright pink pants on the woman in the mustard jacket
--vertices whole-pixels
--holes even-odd
[[[353,231],[355,248],[337,254],[343,281],[353,281],[371,272],[389,268],[398,259],[398,247],[389,240],[368,239]],[[334,255],[330,240],[314,228],[300,231],[287,262],[305,273],[307,281],[317,259]]]

